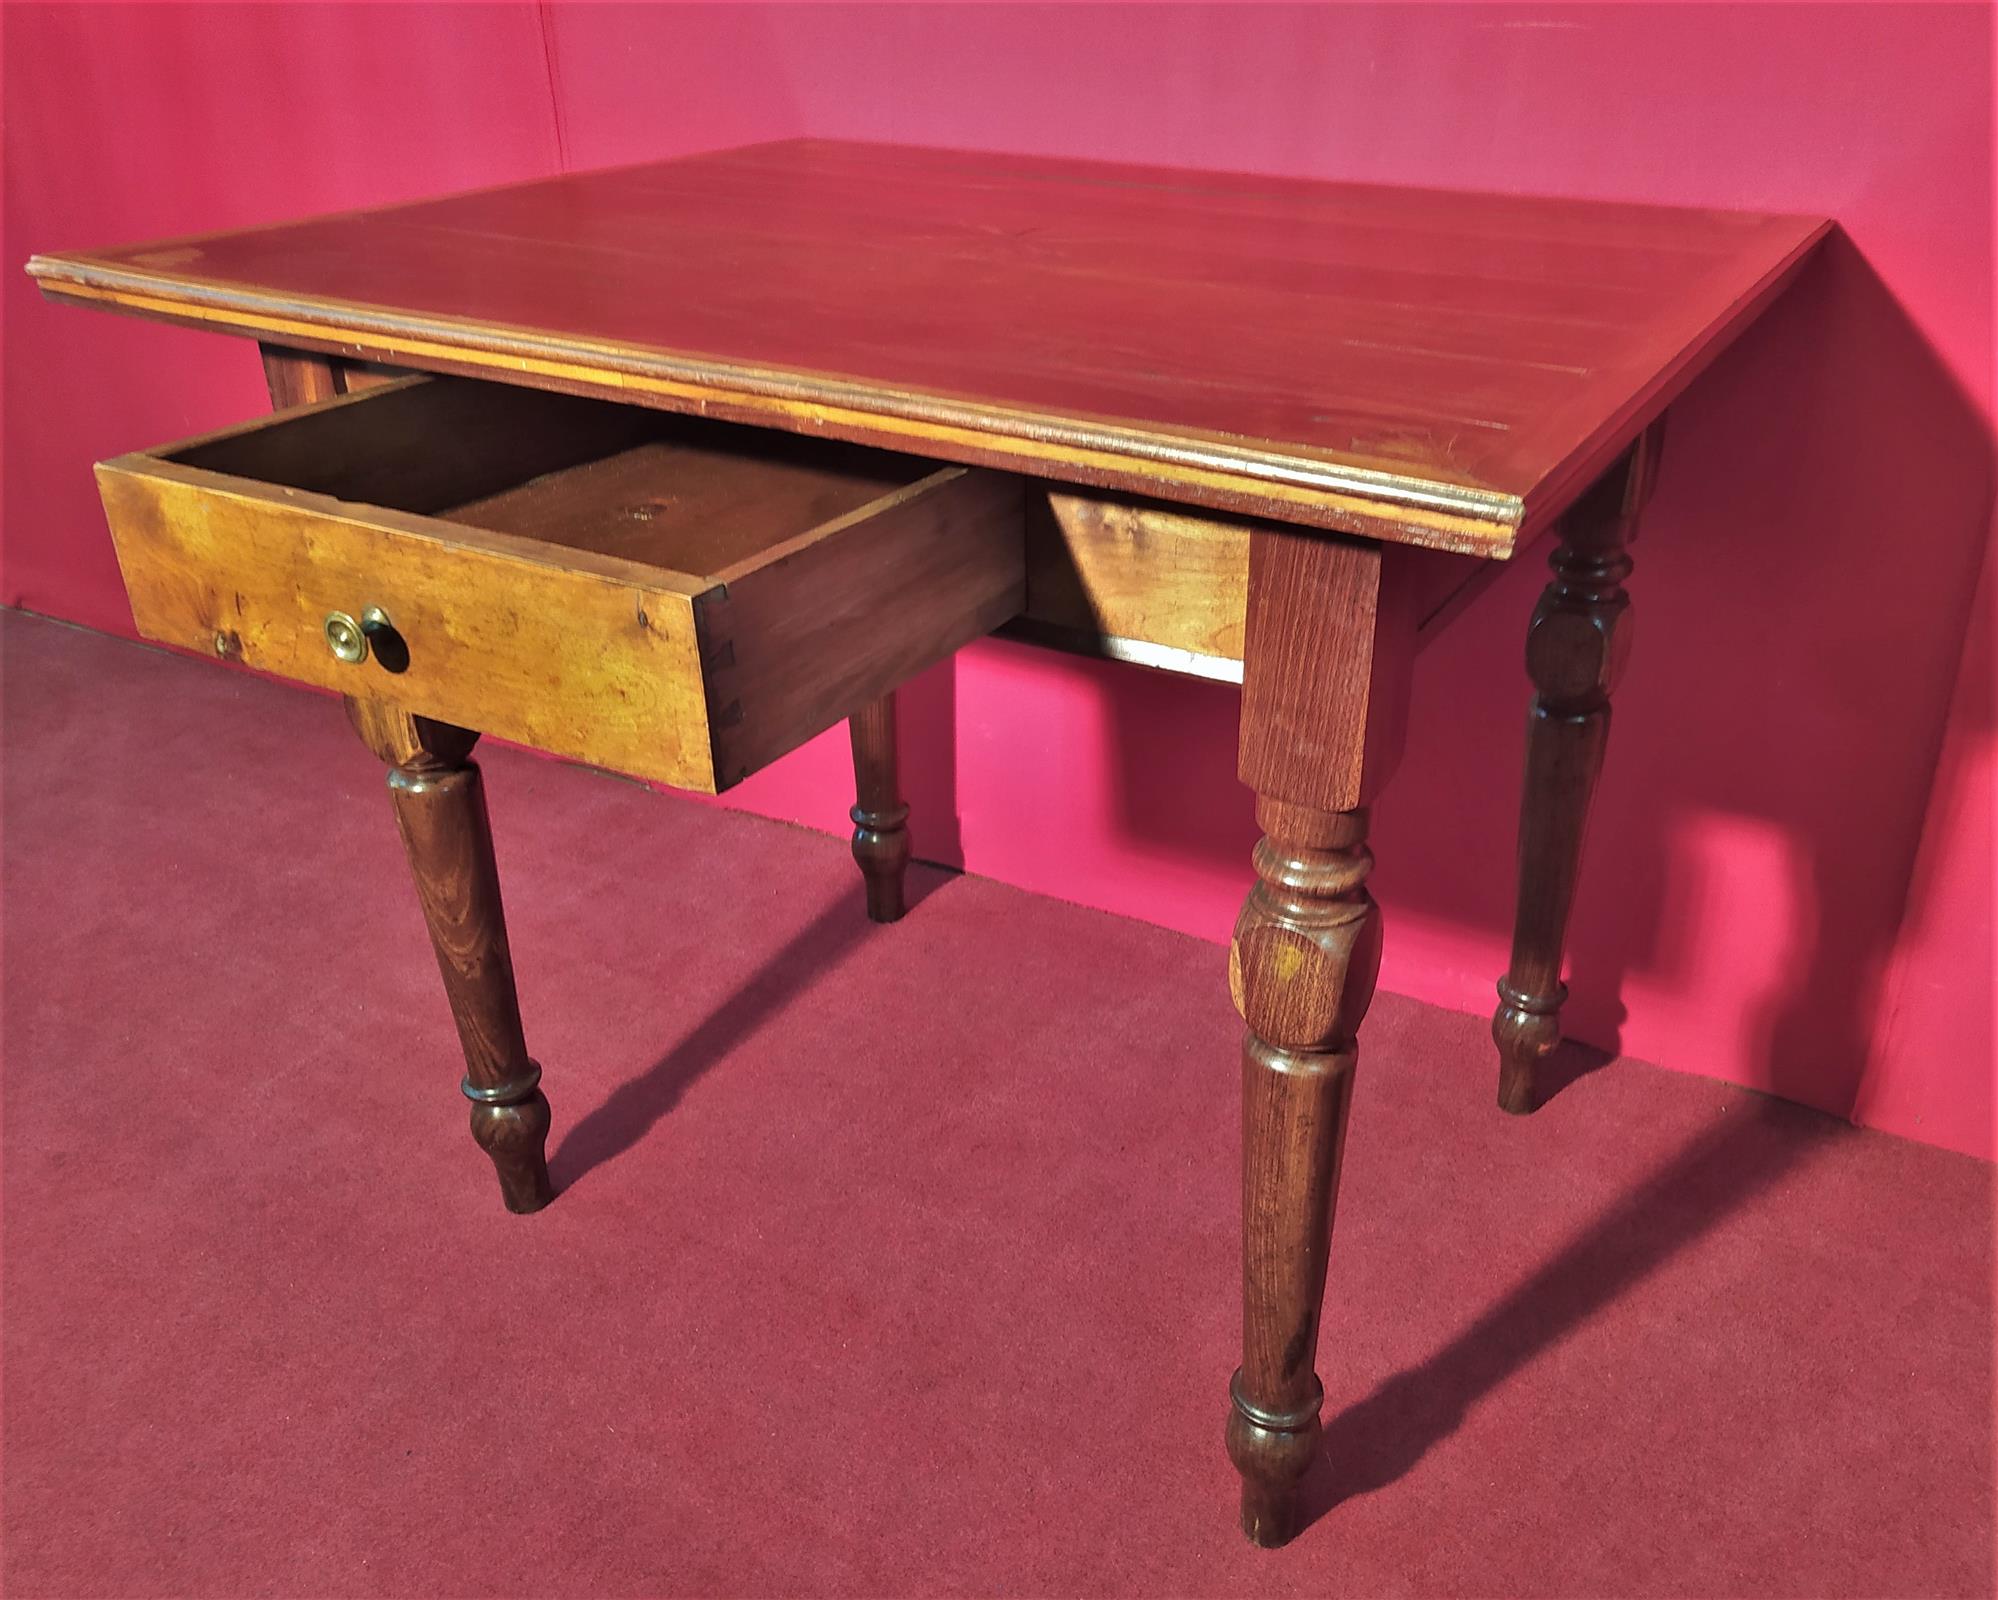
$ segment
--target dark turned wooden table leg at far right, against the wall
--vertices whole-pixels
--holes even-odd
[[[1626,545],[1650,491],[1660,429],[1652,427],[1560,523],[1546,585],[1526,631],[1526,781],[1518,813],[1518,903],[1512,959],[1498,979],[1493,1041],[1498,1105],[1532,1111],[1536,1067],[1560,1043],[1568,911],[1582,861],[1588,803],[1610,733],[1610,691],[1628,653]]]

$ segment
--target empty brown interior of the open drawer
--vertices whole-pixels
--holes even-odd
[[[727,581],[937,467],[835,439],[416,378],[164,459]]]

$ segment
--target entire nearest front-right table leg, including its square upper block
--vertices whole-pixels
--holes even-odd
[[[1359,1025],[1381,965],[1367,805],[1401,755],[1415,619],[1401,557],[1259,529],[1249,541],[1241,777],[1263,841],[1229,949],[1243,1041],[1243,1362],[1229,1458],[1243,1532],[1283,1544],[1319,1448],[1319,1310]]]

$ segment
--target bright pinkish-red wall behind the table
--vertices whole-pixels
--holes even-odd
[[[260,378],[42,304],[42,248],[791,134],[1836,216],[1674,411],[1570,1025],[1994,1153],[1986,6],[8,6],[4,48],[4,599],[112,631],[88,463]],[[1538,583],[1425,657],[1377,813],[1383,981],[1467,1011],[1504,961]],[[981,645],[911,701],[925,855],[1227,935],[1231,691]],[[737,799],[841,827],[845,785],[829,737]]]

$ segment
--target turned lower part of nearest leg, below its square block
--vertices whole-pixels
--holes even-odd
[[[1367,811],[1257,801],[1257,885],[1235,923],[1229,985],[1243,1041],[1243,1364],[1229,1382],[1229,1456],[1243,1532],[1299,1530],[1297,1486],[1319,1446],[1319,1312],[1353,1103],[1359,1025],[1381,967],[1367,893]]]

